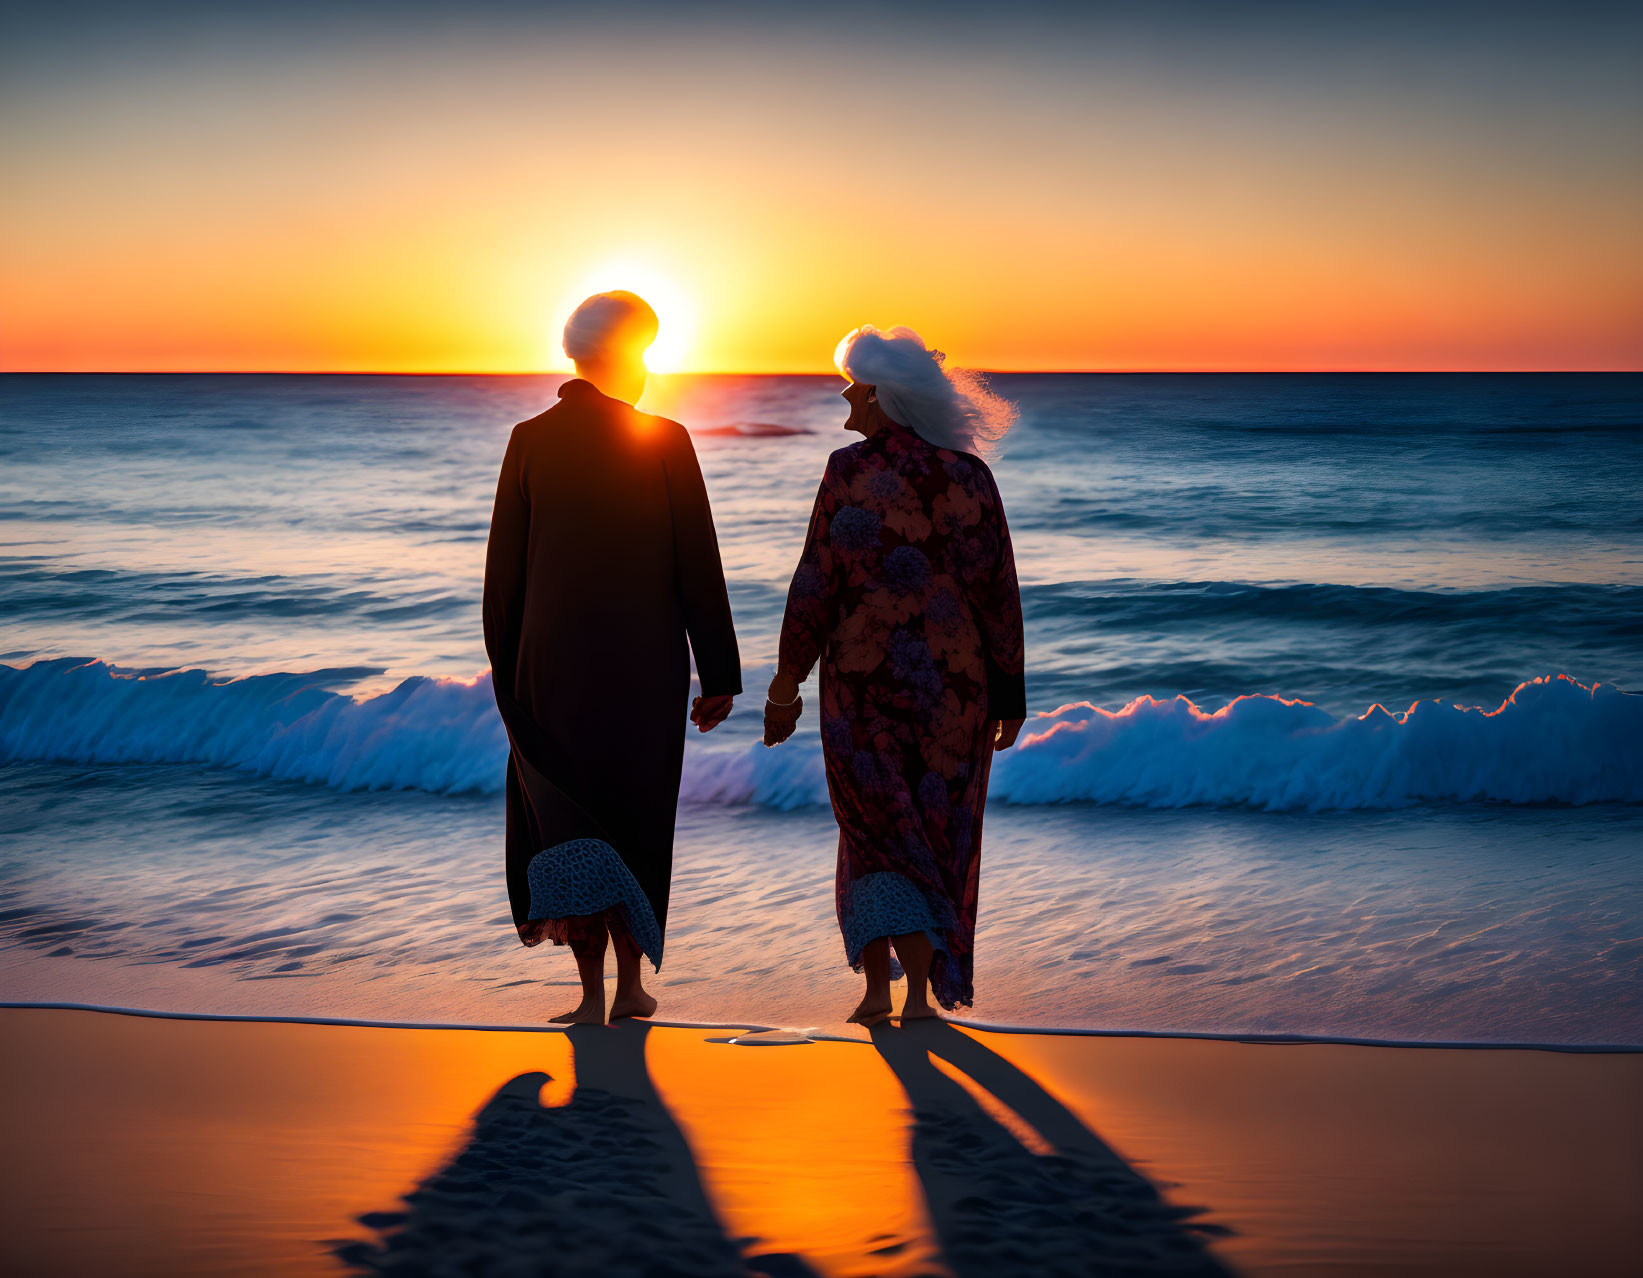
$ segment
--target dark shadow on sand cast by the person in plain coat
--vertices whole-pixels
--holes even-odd
[[[541,1104],[544,1073],[509,1079],[475,1115],[467,1147],[401,1211],[360,1217],[380,1240],[345,1242],[337,1258],[394,1275],[808,1275],[797,1257],[744,1260],[725,1235],[651,1083],[647,1032],[572,1027],[568,1104]]]

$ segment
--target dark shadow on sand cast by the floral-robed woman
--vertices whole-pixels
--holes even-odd
[[[938,1020],[877,1025],[872,1043],[914,1107],[914,1168],[958,1278],[1226,1275],[1221,1232],[1157,1188],[1029,1074]],[[946,1061],[1033,1129],[1015,1135],[940,1069]]]

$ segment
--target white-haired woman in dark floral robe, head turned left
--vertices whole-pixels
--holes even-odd
[[[764,741],[794,733],[798,685],[822,660],[822,749],[838,818],[838,923],[868,989],[849,1017],[902,1018],[973,1000],[981,813],[992,751],[1025,710],[1015,559],[978,457],[1015,411],[943,366],[910,329],[858,329],[838,347],[848,430],[828,458],[787,593]]]

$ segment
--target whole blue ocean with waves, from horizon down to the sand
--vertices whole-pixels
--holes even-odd
[[[0,378],[0,1000],[573,1000],[506,918],[478,613],[508,430],[557,384]],[[1035,718],[974,1017],[1643,1045],[1643,376],[994,388]],[[641,404],[695,434],[748,687],[690,738],[664,1017],[858,997],[815,719],[757,742],[840,389]]]

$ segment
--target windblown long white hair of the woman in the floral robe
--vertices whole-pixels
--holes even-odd
[[[999,399],[979,373],[948,368],[912,329],[864,324],[833,352],[838,371],[872,386],[894,422],[938,448],[986,457],[1015,424],[1015,406]]]

